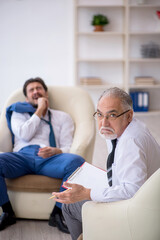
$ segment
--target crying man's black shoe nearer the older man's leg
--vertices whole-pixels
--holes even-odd
[[[64,223],[63,216],[60,213],[50,216],[48,224],[52,227],[57,227],[61,232],[68,234],[70,233],[66,224]]]

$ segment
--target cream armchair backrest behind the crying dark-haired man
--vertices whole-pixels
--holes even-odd
[[[50,108],[67,112],[75,123],[71,153],[92,161],[95,141],[94,105],[89,94],[78,87],[48,86]],[[11,152],[11,133],[6,122],[6,107],[17,101],[25,101],[22,89],[16,90],[6,101],[0,116],[0,151]]]

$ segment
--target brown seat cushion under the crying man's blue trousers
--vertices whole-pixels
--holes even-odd
[[[14,179],[6,179],[8,190],[23,192],[57,192],[61,183],[62,179],[30,174]]]

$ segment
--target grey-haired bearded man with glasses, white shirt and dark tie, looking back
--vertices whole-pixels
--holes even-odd
[[[98,101],[94,117],[110,153],[107,159],[109,186],[87,189],[65,183],[72,188],[70,191],[53,193],[57,202],[64,203],[63,214],[73,240],[82,233],[81,209],[85,201],[129,199],[160,167],[160,146],[147,127],[133,117],[132,99],[125,91],[106,90]]]

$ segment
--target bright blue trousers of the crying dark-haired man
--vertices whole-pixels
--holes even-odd
[[[81,166],[84,159],[71,153],[57,154],[49,158],[37,155],[40,146],[30,145],[15,153],[0,154],[0,206],[9,201],[5,178],[16,178],[27,174],[62,178],[62,183]],[[64,188],[61,186],[60,191]],[[61,207],[60,203],[56,203]]]

